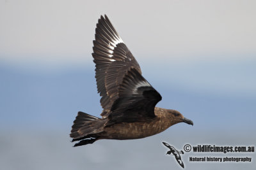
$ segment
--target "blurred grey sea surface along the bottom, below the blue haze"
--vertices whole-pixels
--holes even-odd
[[[177,125],[177,127],[180,127]],[[253,135],[171,127],[162,134],[128,141],[99,140],[72,148],[68,131],[1,131],[1,169],[182,169],[162,141],[183,150],[191,145],[255,146]],[[252,157],[253,162],[189,162],[191,156]],[[184,153],[185,169],[255,169],[255,153]]]

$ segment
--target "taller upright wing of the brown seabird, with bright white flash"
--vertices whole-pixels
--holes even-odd
[[[118,98],[118,87],[125,73],[130,67],[134,67],[139,73],[141,70],[106,15],[100,17],[95,32],[92,56],[96,64],[97,89],[102,96],[102,117],[106,117],[106,113]]]

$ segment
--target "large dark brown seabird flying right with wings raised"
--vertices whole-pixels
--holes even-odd
[[[179,111],[155,107],[161,95],[141,75],[130,50],[105,15],[101,16],[93,41],[97,89],[102,118],[78,112],[70,137],[87,145],[99,139],[139,139],[158,134],[185,122]]]

